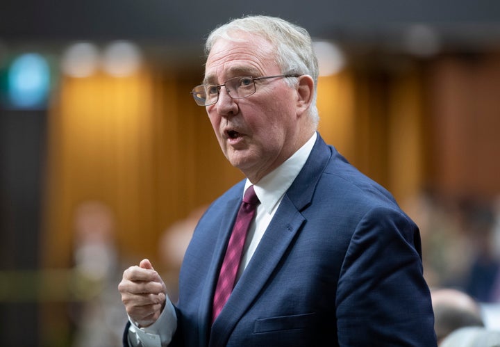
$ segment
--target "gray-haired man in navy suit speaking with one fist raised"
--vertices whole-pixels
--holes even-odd
[[[124,344],[435,346],[417,226],[316,131],[308,33],[244,17],[213,31],[206,52],[205,79],[192,93],[247,179],[199,220],[175,306],[149,261],[124,271]],[[221,309],[214,296],[247,188],[256,215]]]

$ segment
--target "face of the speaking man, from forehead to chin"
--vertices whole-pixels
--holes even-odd
[[[242,42],[219,39],[206,62],[205,83],[237,76],[281,74],[276,52],[264,38],[240,33]],[[283,78],[256,82],[255,94],[231,99],[222,87],[206,111],[228,161],[256,183],[297,150],[297,90]]]

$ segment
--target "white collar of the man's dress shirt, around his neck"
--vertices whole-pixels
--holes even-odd
[[[258,184],[254,184],[256,195],[260,200],[260,204],[264,207],[267,213],[272,213],[285,192],[290,188],[295,177],[299,175],[304,164],[306,163],[310,152],[316,142],[317,133],[288,158],[281,166],[278,166],[272,172],[269,172],[265,177],[260,179]],[[251,186],[251,181],[247,179],[244,190]]]

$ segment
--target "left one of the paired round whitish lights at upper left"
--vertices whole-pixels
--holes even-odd
[[[78,42],[68,47],[63,54],[61,68],[72,77],[88,77],[97,70],[99,51],[90,42]]]

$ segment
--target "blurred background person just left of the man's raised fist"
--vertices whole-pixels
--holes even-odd
[[[74,284],[76,325],[72,347],[121,346],[123,313],[116,281],[115,217],[107,204],[86,200],[74,213]]]

